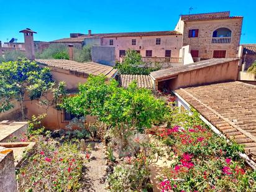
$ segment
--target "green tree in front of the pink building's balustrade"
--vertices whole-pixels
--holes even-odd
[[[129,49],[126,51],[124,61],[117,63],[116,68],[121,74],[149,75],[151,71],[159,70],[160,66],[147,66],[146,63],[142,62],[140,53]]]

